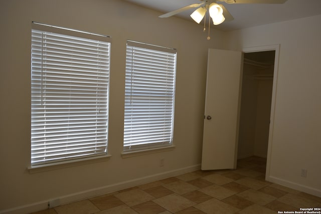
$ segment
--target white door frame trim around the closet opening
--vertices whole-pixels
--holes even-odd
[[[270,113],[270,126],[269,126],[269,135],[268,135],[269,139],[268,139],[268,146],[267,146],[266,173],[265,173],[265,180],[269,180],[271,158],[272,158],[271,156],[272,156],[272,144],[273,144],[273,129],[274,129],[274,115],[275,115],[275,102],[276,102],[276,91],[277,91],[277,77],[278,77],[280,45],[278,44],[278,45],[267,45],[267,46],[242,48],[243,53],[253,53],[253,52],[262,52],[262,51],[275,51],[271,113]]]

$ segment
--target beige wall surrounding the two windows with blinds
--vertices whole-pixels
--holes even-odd
[[[119,0],[0,2],[0,212],[46,208],[200,167],[208,48],[223,48],[224,33]],[[31,22],[112,37],[108,161],[30,174]],[[126,40],[177,49],[176,148],[122,158]],[[165,166],[160,167],[160,160]],[[35,204],[32,204],[35,203]],[[26,206],[26,207],[24,207]],[[17,213],[18,211],[13,211]]]

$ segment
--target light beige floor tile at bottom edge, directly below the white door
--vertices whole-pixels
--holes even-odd
[[[240,210],[215,198],[199,203],[194,207],[208,214],[232,214]]]

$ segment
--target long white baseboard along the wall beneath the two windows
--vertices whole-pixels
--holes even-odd
[[[52,201],[54,206],[58,206],[58,205],[67,204],[67,203],[71,203],[71,202],[78,201],[78,200],[83,200],[83,199],[86,199],[89,197],[94,197],[97,195],[102,195],[102,194],[118,191],[121,189],[126,189],[126,188],[130,188],[133,186],[149,183],[149,182],[152,182],[155,180],[178,176],[180,174],[196,171],[199,169],[201,169],[201,164],[196,164],[196,165],[192,165],[192,166],[188,166],[188,167],[184,167],[184,168],[179,168],[179,169],[175,169],[175,170],[171,170],[171,171],[165,171],[165,172],[158,173],[158,174],[148,175],[145,177],[140,177],[140,178],[136,178],[136,179],[132,179],[132,180],[126,180],[126,181],[119,182],[119,183],[101,186],[98,188],[88,189],[88,190],[81,191],[81,192],[75,192],[75,193],[68,194],[68,195],[62,195],[58,198],[48,198],[47,200],[38,201],[35,203],[26,204],[26,205],[22,205],[22,206],[17,206],[17,207],[13,207],[13,208],[6,209],[6,210],[0,210],[0,213],[1,214],[2,213],[3,214],[26,214],[26,213],[36,212],[36,211],[40,211],[43,209],[47,209],[49,201]]]

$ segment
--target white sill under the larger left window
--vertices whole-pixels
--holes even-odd
[[[107,161],[111,157],[110,154],[107,155],[101,155],[96,157],[87,157],[87,158],[81,158],[81,159],[75,159],[75,160],[67,160],[67,161],[61,161],[56,163],[47,163],[47,164],[41,164],[41,165],[35,165],[35,166],[28,166],[28,170],[30,174],[38,173],[38,172],[44,172],[44,171],[50,171],[50,170],[56,170],[56,169],[62,169],[67,167],[73,167],[73,166],[79,166],[79,165],[85,165],[90,163],[97,163],[102,161]]]

